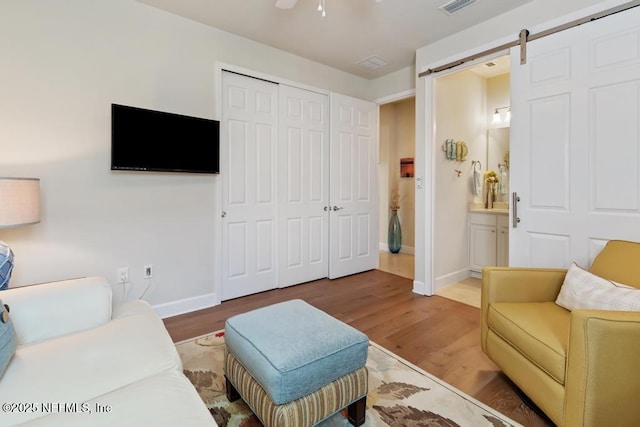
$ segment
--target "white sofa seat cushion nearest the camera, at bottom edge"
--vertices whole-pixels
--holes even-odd
[[[24,426],[216,426],[213,416],[207,411],[193,385],[179,371],[145,378],[85,403],[84,408],[90,410],[90,413],[56,413],[37,418]],[[109,412],[96,411],[96,408],[105,410],[107,407]],[[141,417],[142,414],[144,417]]]

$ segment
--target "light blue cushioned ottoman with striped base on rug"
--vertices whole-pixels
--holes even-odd
[[[364,422],[362,332],[290,300],[227,319],[225,342],[227,394],[237,391],[265,426],[314,425],[344,407],[352,424]]]

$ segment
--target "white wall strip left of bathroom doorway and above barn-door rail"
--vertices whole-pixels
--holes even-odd
[[[624,0],[533,0],[517,9],[505,12],[493,19],[456,33],[416,51],[416,73],[429,68],[481,52],[517,39],[520,30],[542,31],[555,25],[605,10]],[[430,78],[416,79],[416,177],[425,179],[425,187],[416,193],[416,268],[414,291],[432,292],[433,230],[431,217],[432,187],[429,183],[433,172],[434,140]],[[426,85],[425,82],[429,82]]]

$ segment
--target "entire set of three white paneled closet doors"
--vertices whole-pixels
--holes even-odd
[[[377,105],[222,72],[221,300],[378,266]]]

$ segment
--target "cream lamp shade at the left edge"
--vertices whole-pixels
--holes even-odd
[[[40,222],[40,180],[0,178],[0,228]]]

